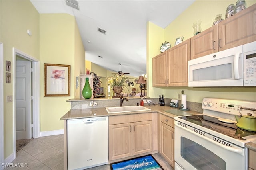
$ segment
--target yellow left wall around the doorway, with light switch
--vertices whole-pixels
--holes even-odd
[[[32,36],[27,34],[27,29],[32,31]],[[4,83],[6,99],[13,95],[12,48],[39,59],[39,14],[29,0],[0,0],[0,42],[4,45],[4,63],[12,62],[11,83]],[[4,100],[4,158],[13,153],[13,104]]]

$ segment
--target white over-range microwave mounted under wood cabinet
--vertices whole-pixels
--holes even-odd
[[[188,61],[188,86],[256,86],[256,41]]]

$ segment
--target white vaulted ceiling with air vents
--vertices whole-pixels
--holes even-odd
[[[146,24],[168,26],[194,0],[30,0],[39,13],[68,13],[76,18],[86,60],[108,70],[146,74]],[[98,32],[106,30],[106,35]],[[90,41],[90,43],[88,43]],[[160,45],[159,45],[160,47]],[[102,58],[98,57],[102,56]]]

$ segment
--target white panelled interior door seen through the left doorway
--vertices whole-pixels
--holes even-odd
[[[32,137],[31,61],[16,61],[16,140]]]

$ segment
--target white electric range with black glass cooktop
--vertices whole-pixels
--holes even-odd
[[[203,114],[174,117],[175,169],[248,168],[244,139],[256,132],[236,127],[234,115],[256,116],[256,102],[204,98]]]

